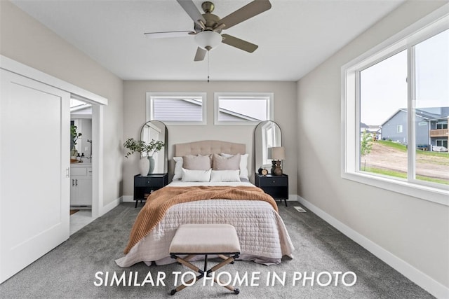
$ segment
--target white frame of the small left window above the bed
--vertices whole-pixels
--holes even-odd
[[[194,120],[180,120],[180,121],[166,121],[166,120],[159,120],[156,118],[153,118],[153,98],[177,98],[177,99],[189,99],[194,97],[201,97],[202,101],[202,120],[194,121]],[[166,125],[206,125],[207,124],[207,110],[206,110],[206,104],[207,104],[207,94],[206,92],[147,92],[146,93],[146,118],[147,121],[149,120],[159,120],[162,121]]]

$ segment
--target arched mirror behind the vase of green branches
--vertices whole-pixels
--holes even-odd
[[[165,174],[168,172],[168,130],[164,123],[159,120],[150,120],[140,130],[140,140],[149,144],[152,140],[163,142],[160,151],[150,151],[150,174]],[[156,147],[157,148],[157,147]],[[146,156],[147,153],[142,153]]]

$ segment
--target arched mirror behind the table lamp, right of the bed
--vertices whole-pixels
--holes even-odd
[[[270,169],[272,167],[272,159],[269,150],[282,146],[281,128],[272,120],[262,121],[255,127],[254,140],[255,172],[259,168]]]

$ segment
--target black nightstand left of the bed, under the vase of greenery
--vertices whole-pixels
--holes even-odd
[[[138,207],[138,202],[142,203],[147,200],[147,197],[152,191],[158,190],[168,184],[168,174],[149,174],[141,176],[136,174],[134,176],[134,200],[135,207]]]

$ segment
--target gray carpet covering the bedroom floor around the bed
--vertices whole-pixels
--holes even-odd
[[[300,205],[295,203],[296,205]],[[128,235],[135,216],[140,209],[133,203],[123,203],[109,213],[93,221],[76,232],[67,242],[47,253],[14,277],[0,285],[1,298],[433,298],[429,293],[403,277],[402,274],[386,265],[358,244],[307,211],[299,213],[290,202],[289,207],[279,204],[279,213],[290,233],[296,248],[294,258],[283,258],[280,265],[264,266],[248,261],[237,261],[221,270],[229,272],[232,279],[245,272],[259,277],[254,281],[259,286],[238,286],[239,295],[234,295],[222,286],[203,286],[197,282],[170,296],[174,285],[173,272],[189,271],[178,264],[147,267],[143,263],[128,269],[118,267],[114,260],[123,256]],[[201,266],[201,262],[195,262]],[[101,281],[95,277],[97,272],[109,275],[138,272],[138,283],[144,281],[151,272],[156,283],[158,272],[165,272],[166,286],[95,286]],[[236,273],[238,271],[238,273]],[[335,279],[333,272],[354,272],[356,284],[344,286],[341,274]],[[260,274],[256,274],[260,272]],[[267,276],[282,277],[286,273],[285,286],[279,281],[267,286]],[[293,286],[295,272],[311,279],[297,281]],[[333,274],[329,286],[320,286],[317,276],[321,272]],[[100,275],[105,279],[105,274]],[[186,276],[188,279],[189,277]],[[222,276],[222,278],[227,278]],[[131,279],[133,281],[133,278]],[[110,281],[110,278],[108,279]],[[271,281],[271,280],[270,280]],[[326,284],[327,274],[321,274],[319,282]],[[337,285],[335,286],[335,281]],[[350,284],[353,277],[348,274],[345,282]],[[234,297],[238,296],[238,297]]]

